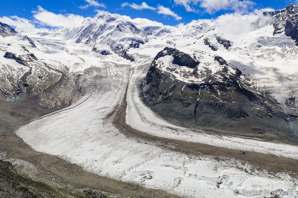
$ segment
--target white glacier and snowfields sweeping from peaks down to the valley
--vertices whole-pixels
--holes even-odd
[[[205,20],[194,20],[174,27],[117,14],[86,18],[80,27],[73,29],[5,34],[0,37],[0,76],[4,82],[0,85],[6,90],[5,97],[26,99],[24,93],[28,88],[16,90],[15,87],[30,69],[4,58],[6,52],[25,57],[24,61],[29,62],[35,73],[26,79],[32,82],[29,86],[35,95],[46,94],[44,90],[61,78],[74,76],[79,76],[77,83],[83,90],[80,97],[63,98],[67,107],[32,120],[15,133],[32,149],[78,164],[85,171],[181,197],[248,197],[241,192],[279,189],[292,192],[292,196],[284,197],[297,197],[298,180],[289,172],[259,170],[254,164],[233,157],[223,156],[218,160],[212,155],[183,153],[174,143],[163,146],[159,140],[139,138],[128,132],[133,129],[164,140],[298,160],[295,144],[176,126],[154,113],[139,97],[156,54],[165,47],[175,47],[188,54],[199,50],[223,57],[231,67],[245,74],[243,81],[250,79],[247,82],[251,88],[268,92],[283,107],[297,109],[297,100],[291,103],[289,99],[298,98],[298,47],[290,37],[273,34],[268,17],[254,16],[251,31],[237,35],[225,32],[212,21],[208,21],[209,25]],[[266,21],[261,23],[258,19]],[[34,46],[30,40],[23,39],[25,34],[34,41]],[[204,44],[206,39],[208,45]],[[231,45],[227,47],[226,43]],[[28,58],[31,53],[36,60]],[[175,78],[185,83],[203,80],[182,78],[181,70],[186,68],[172,61],[171,56],[160,59],[160,63],[179,70],[172,73]],[[211,61],[212,58],[206,58],[206,62]],[[164,65],[160,67],[167,72]],[[212,64],[209,69],[215,73],[218,66]],[[42,78],[33,78],[39,75]],[[2,95],[1,99],[5,97]],[[56,103],[44,102],[41,106],[62,107]]]

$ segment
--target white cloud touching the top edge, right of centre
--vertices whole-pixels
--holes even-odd
[[[234,10],[239,13],[247,13],[254,6],[254,2],[250,0],[174,0],[177,5],[183,5],[187,12],[197,12],[190,5],[197,5],[204,8],[205,12],[212,14],[219,10]]]

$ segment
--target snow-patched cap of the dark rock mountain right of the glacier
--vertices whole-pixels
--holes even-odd
[[[223,58],[194,49],[177,50],[165,47],[157,54],[152,64],[170,73],[173,78],[187,83],[202,83],[210,80],[211,76],[218,81],[224,81],[228,75],[241,75],[235,66],[227,63]]]

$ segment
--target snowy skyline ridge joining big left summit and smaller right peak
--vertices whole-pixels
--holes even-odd
[[[201,33],[209,31],[210,28],[211,26],[204,20],[192,21],[184,28],[177,29],[147,19],[105,14],[96,18],[87,18],[79,28],[65,30],[63,37],[77,44],[88,45],[92,51],[101,55],[116,53],[133,61],[133,55],[129,54],[131,48],[139,48],[157,39],[175,46],[177,38],[183,36],[198,39]]]

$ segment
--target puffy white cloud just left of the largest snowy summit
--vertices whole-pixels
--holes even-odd
[[[83,16],[80,15],[55,14],[53,12],[45,10],[40,6],[38,6],[38,11],[33,11],[33,14],[33,17],[38,20],[39,23],[51,27],[72,28],[74,26],[80,26],[85,19]]]

